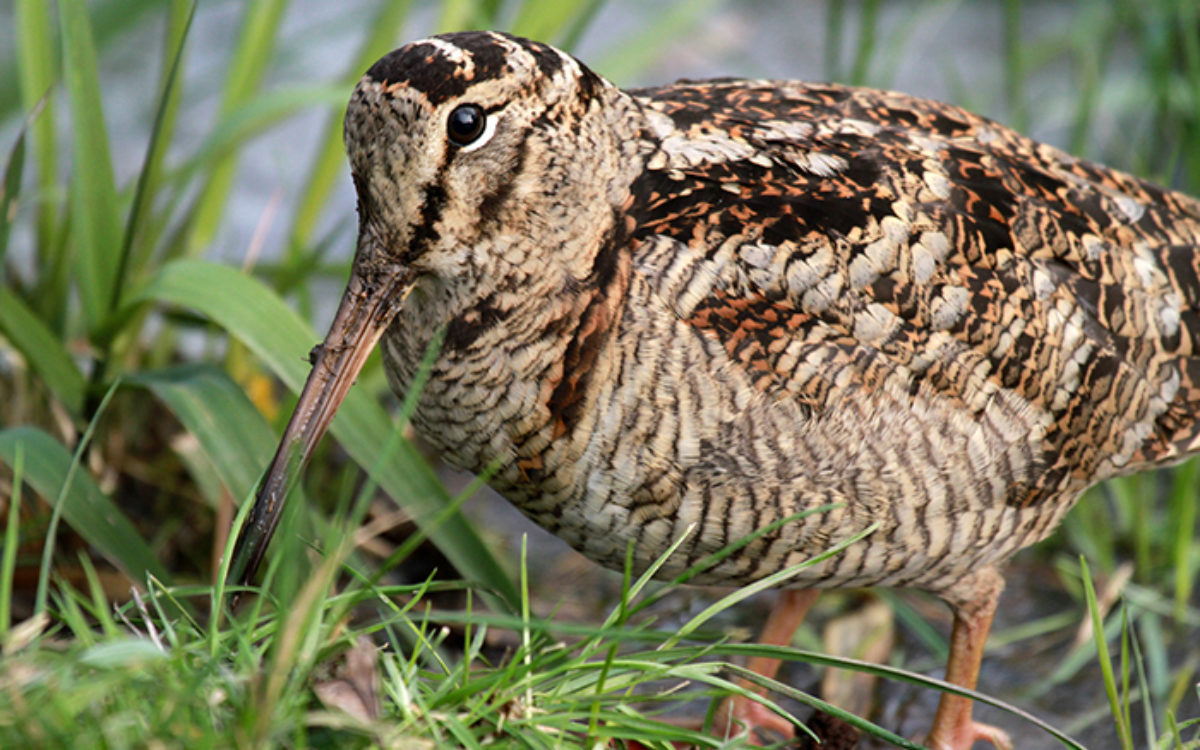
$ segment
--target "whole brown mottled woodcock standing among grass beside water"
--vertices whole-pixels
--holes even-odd
[[[1200,203],[956,107],[834,84],[622,91],[545,44],[436,36],[346,113],[346,294],[239,541],[374,344],[416,432],[592,559],[914,587],[972,688],[997,566],[1094,481],[1200,446]],[[786,641],[811,601],[786,593]],[[774,665],[756,662],[770,671]],[[751,702],[730,715],[768,724]],[[943,695],[929,744],[1004,746]]]

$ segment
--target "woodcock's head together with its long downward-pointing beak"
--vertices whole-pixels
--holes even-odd
[[[247,581],[300,467],[422,280],[464,294],[590,271],[614,222],[622,95],[574,58],[496,32],[413,42],[376,62],[346,112],[359,198],[349,283],[234,553]],[[560,282],[560,283],[559,283]]]

